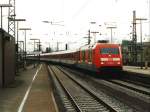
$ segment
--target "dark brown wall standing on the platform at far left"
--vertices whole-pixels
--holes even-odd
[[[15,78],[15,38],[0,29],[0,87]]]

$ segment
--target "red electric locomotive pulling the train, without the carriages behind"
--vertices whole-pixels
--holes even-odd
[[[121,47],[118,44],[96,43],[80,48],[77,66],[92,71],[122,70]]]

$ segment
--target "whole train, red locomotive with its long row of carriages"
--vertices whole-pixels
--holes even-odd
[[[118,44],[96,43],[74,51],[41,54],[41,60],[69,64],[95,72],[122,70],[121,47]]]

